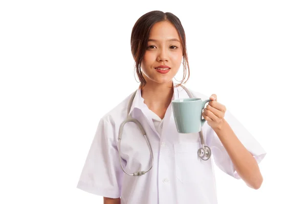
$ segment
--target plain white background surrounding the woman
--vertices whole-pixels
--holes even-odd
[[[259,190],[215,168],[219,203],[306,203],[306,2],[109,2],[1,1],[0,203],[103,202],[76,185],[99,119],[138,87],[130,34],[152,10],[183,24],[186,86],[268,152]]]

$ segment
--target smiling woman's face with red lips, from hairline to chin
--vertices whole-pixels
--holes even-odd
[[[145,56],[141,63],[148,84],[168,84],[178,72],[182,62],[182,45],[173,24],[157,22],[150,30]],[[166,65],[168,70],[157,67]]]

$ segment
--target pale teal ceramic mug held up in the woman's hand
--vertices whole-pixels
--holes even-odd
[[[202,112],[210,99],[180,98],[171,101],[173,116],[179,133],[198,133],[205,123]]]

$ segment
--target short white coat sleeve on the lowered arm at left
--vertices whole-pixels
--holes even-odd
[[[111,122],[99,121],[77,188],[104,197],[121,195],[122,170]]]

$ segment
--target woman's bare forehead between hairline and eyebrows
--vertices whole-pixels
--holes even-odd
[[[150,30],[149,38],[159,41],[165,41],[172,38],[180,40],[176,28],[169,21],[155,23]]]

